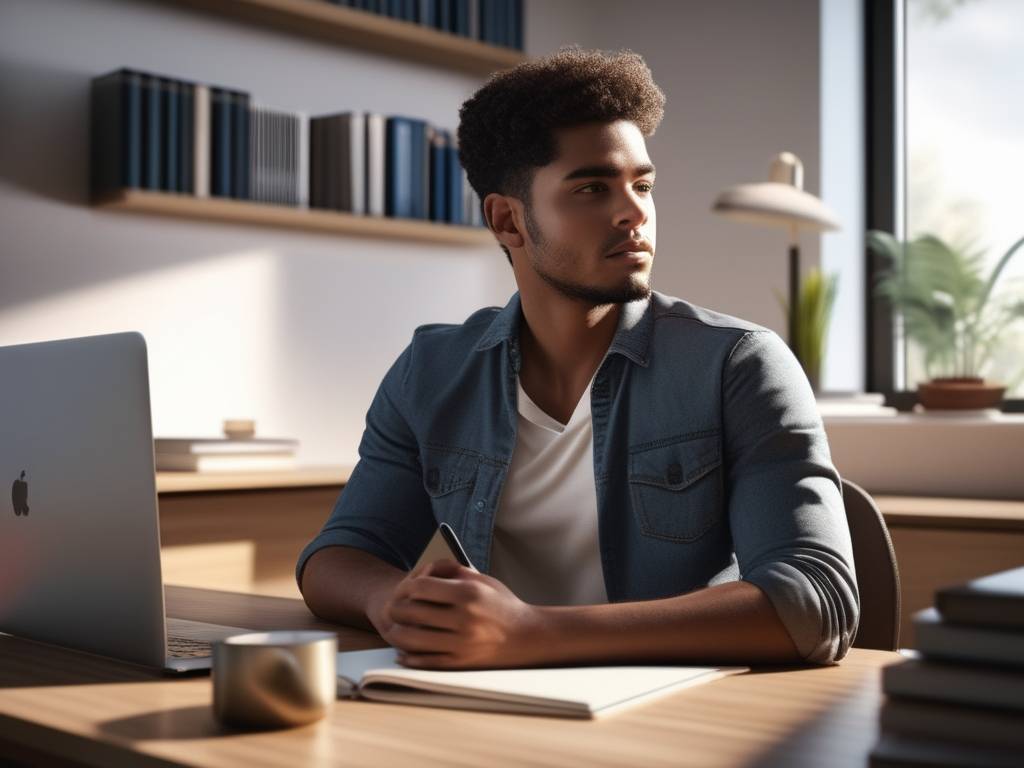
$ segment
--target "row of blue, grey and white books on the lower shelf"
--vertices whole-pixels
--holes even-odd
[[[94,200],[137,188],[483,224],[454,137],[415,118],[309,119],[122,69],[92,81],[91,144]]]

